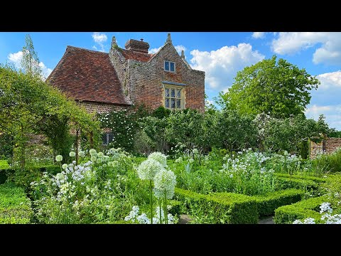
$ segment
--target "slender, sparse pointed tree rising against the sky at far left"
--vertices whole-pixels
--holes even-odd
[[[36,50],[34,50],[33,41],[29,34],[25,36],[25,46],[23,46],[23,58],[21,59],[21,67],[24,72],[31,75],[42,75],[39,66],[39,58]]]

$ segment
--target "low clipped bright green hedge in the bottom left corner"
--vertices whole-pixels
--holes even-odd
[[[26,224],[30,223],[32,217],[31,201],[23,188],[13,183],[0,185],[0,223]]]

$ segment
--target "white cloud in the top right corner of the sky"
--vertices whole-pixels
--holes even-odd
[[[313,63],[341,64],[340,32],[281,32],[271,49],[278,54],[294,54],[321,45],[313,53]]]

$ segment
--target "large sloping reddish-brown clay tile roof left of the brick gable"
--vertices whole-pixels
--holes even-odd
[[[47,80],[75,100],[131,105],[108,53],[67,46]]]

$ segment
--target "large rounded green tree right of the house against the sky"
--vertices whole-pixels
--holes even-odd
[[[241,114],[260,114],[284,118],[303,114],[310,102],[310,90],[320,81],[305,69],[279,59],[261,60],[239,71],[230,90],[220,95],[227,108]]]

